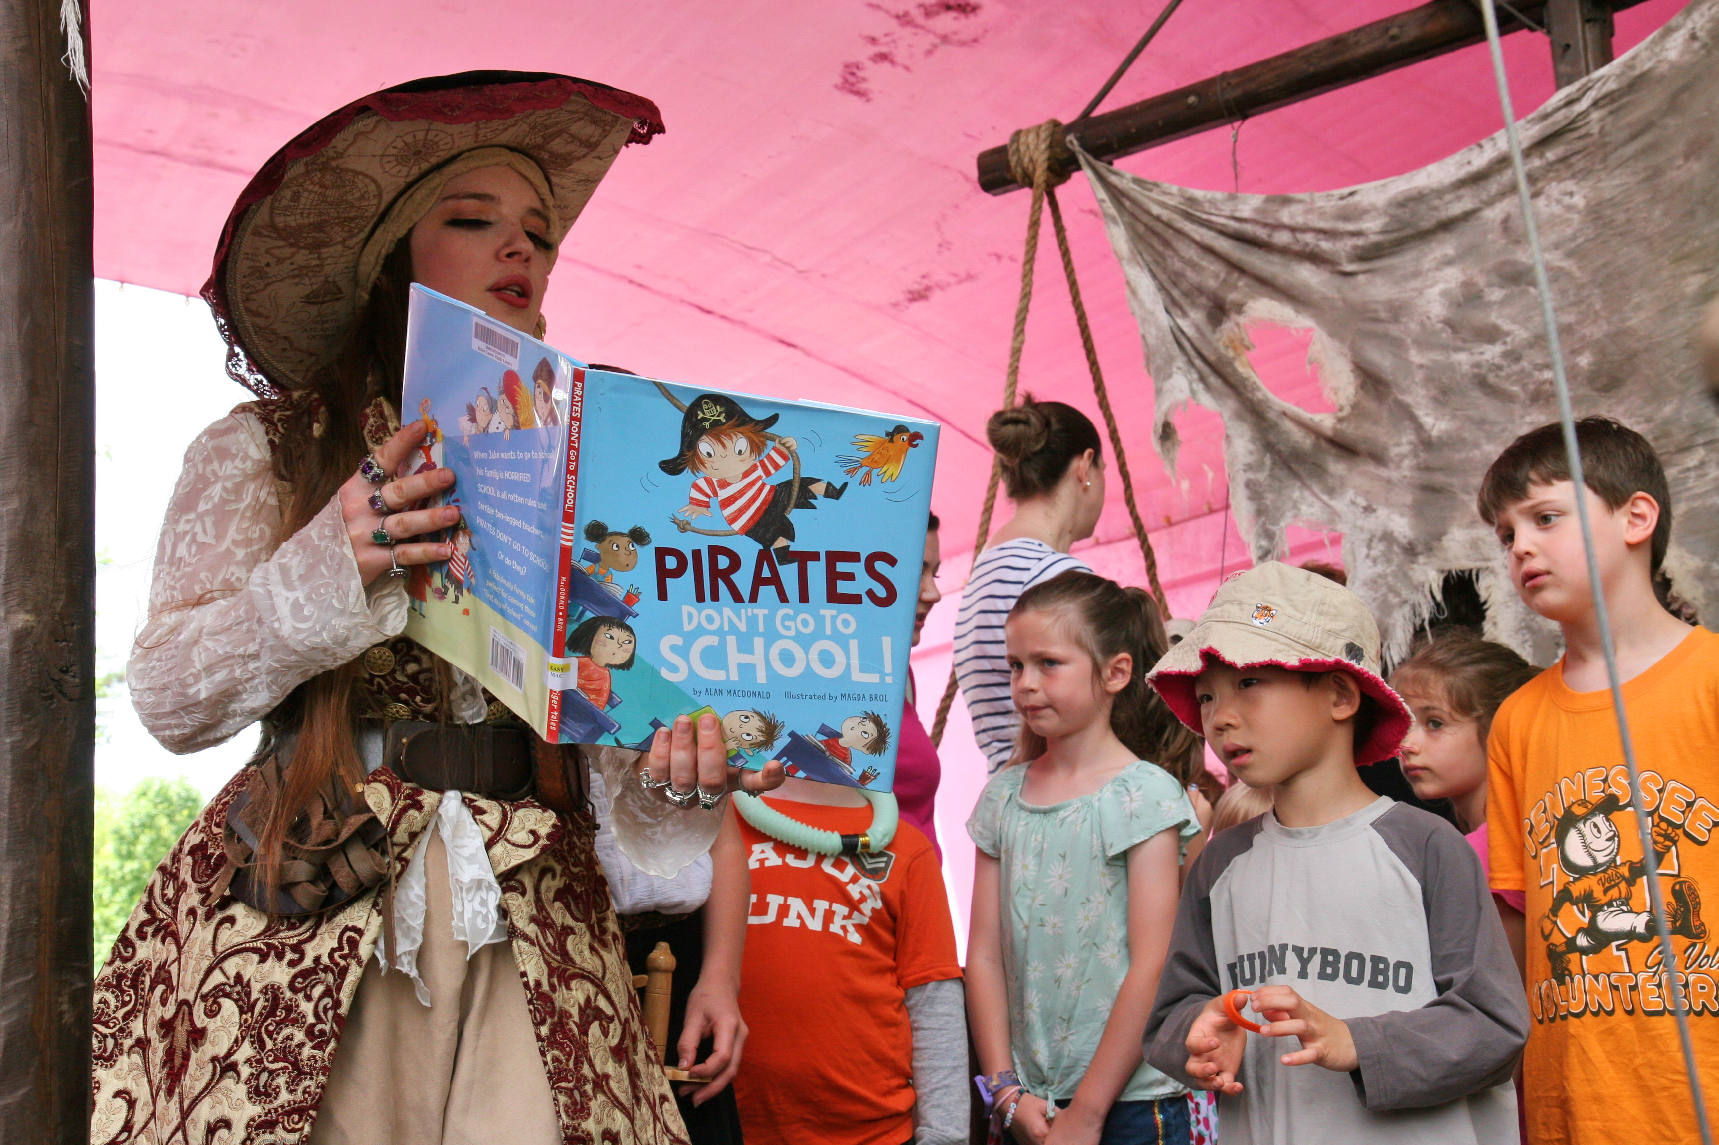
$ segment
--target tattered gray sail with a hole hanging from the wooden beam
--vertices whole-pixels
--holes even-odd
[[[1667,572],[1719,620],[1719,410],[1691,333],[1719,288],[1719,0],[1693,0],[1521,124],[1576,414],[1643,433],[1671,477]],[[1401,654],[1446,572],[1475,570],[1489,635],[1537,663],[1475,491],[1516,434],[1556,421],[1551,357],[1504,136],[1349,191],[1233,196],[1081,156],[1171,415],[1226,424],[1233,503],[1255,560],[1284,525],[1341,529],[1349,584]],[[1257,323],[1315,331],[1337,407],[1274,397],[1248,364]]]

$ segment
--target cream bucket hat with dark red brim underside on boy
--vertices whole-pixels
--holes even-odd
[[[1176,718],[1203,735],[1193,682],[1208,661],[1231,668],[1346,671],[1379,706],[1355,762],[1391,759],[1415,724],[1403,697],[1379,675],[1379,625],[1349,589],[1305,568],[1267,561],[1226,580],[1210,608],[1147,676]]]

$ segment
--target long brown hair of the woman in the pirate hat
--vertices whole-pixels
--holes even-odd
[[[346,343],[308,378],[320,402],[308,402],[287,424],[275,451],[275,476],[291,488],[282,508],[280,541],[308,525],[347,482],[370,451],[364,409],[378,397],[401,407],[406,373],[406,314],[413,282],[411,235],[382,263],[370,300]],[[311,676],[275,709],[277,736],[296,731],[284,786],[260,836],[258,879],[263,901],[280,889],[282,845],[320,795],[344,803],[344,793],[364,781],[364,764],[352,736],[358,711],[358,661]]]

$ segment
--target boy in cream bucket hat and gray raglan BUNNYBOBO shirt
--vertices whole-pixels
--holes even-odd
[[[1224,1140],[1516,1142],[1528,1013],[1480,862],[1355,772],[1413,721],[1360,597],[1260,565],[1150,680],[1275,807],[1188,872],[1148,1061],[1217,1090]],[[1270,1020],[1260,1033],[1226,1015],[1231,992]]]

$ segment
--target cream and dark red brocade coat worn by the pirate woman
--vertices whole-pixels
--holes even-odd
[[[273,446],[284,414],[299,400],[254,402],[229,421],[249,419],[246,431],[266,434]],[[385,438],[394,419],[373,421],[366,436]],[[196,455],[193,446],[187,472]],[[172,529],[170,518],[158,579],[160,561],[172,558],[165,536]],[[239,575],[244,580],[248,570]],[[376,699],[414,712],[433,707],[433,657],[399,635],[375,647],[388,649],[366,659]],[[196,694],[193,678],[184,687],[187,707],[218,709]],[[150,704],[138,699],[155,731],[167,716]],[[198,721],[217,723],[206,712]],[[193,731],[172,735],[172,745],[194,743]],[[93,1145],[284,1145],[309,1135],[340,1030],[382,934],[382,912],[376,893],[327,915],[285,920],[230,896],[211,900],[225,862],[222,824],[244,785],[246,772],[234,776],[162,862],[96,977]],[[682,1143],[593,850],[595,821],[557,815],[535,800],[461,798],[483,831],[502,889],[562,1138]],[[395,877],[404,875],[442,795],[382,767],[370,774],[364,800],[388,829]]]

